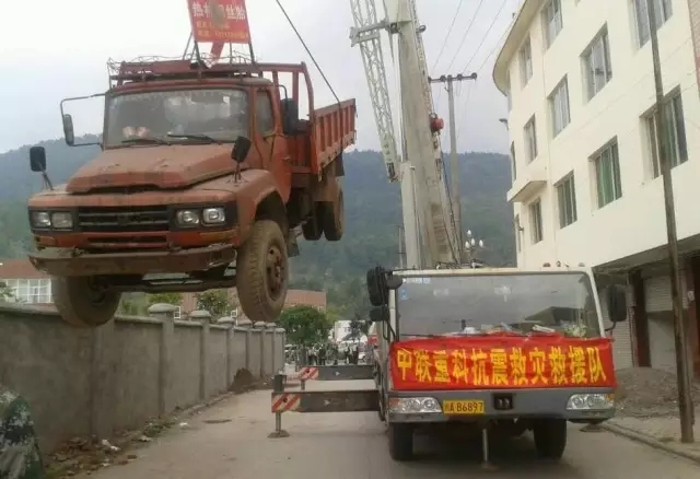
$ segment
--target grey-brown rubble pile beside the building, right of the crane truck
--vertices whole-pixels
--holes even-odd
[[[678,416],[676,375],[652,367],[628,367],[616,372],[616,416],[654,418]],[[691,386],[693,404],[700,401],[700,383]]]

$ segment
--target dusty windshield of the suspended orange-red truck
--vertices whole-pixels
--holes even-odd
[[[149,140],[233,142],[240,136],[248,136],[248,96],[243,90],[167,90],[107,100],[107,148]]]

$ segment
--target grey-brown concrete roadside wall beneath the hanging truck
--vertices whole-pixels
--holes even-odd
[[[203,401],[241,369],[266,377],[282,367],[283,330],[175,322],[170,308],[84,330],[52,311],[0,305],[0,384],[30,401],[45,451]]]

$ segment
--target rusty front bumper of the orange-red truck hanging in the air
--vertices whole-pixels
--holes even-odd
[[[228,244],[172,252],[80,253],[72,248],[45,248],[31,253],[30,261],[51,276],[158,274],[202,271],[229,265],[236,249]]]

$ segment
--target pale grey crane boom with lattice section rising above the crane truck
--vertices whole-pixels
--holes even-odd
[[[359,5],[365,3],[368,15],[362,16]],[[445,171],[440,144],[440,128],[433,114],[432,93],[428,79],[428,67],[415,0],[383,0],[386,19],[376,21],[375,0],[351,0],[355,28],[351,33],[353,44],[357,35],[364,34],[368,40],[380,45],[373,47],[373,52],[381,54],[378,32],[388,31],[397,39],[400,105],[401,105],[401,138],[404,141],[404,162],[400,164],[401,197],[404,208],[404,231],[406,235],[407,267],[433,268],[440,264],[455,265],[459,262],[457,232],[453,218],[453,208],[446,187]],[[372,17],[372,14],[374,15]],[[372,36],[373,35],[373,36]],[[386,91],[386,69],[384,59],[372,57],[363,48],[363,60],[368,85],[375,105],[375,119],[380,130],[380,139],[387,140],[386,128],[383,122],[389,116],[380,116],[375,104],[375,93],[382,87]],[[373,68],[382,63],[381,69]],[[383,80],[377,81],[377,72],[383,72]],[[377,85],[382,85],[377,89]],[[378,96],[378,94],[376,94]],[[388,102],[387,102],[388,105]],[[393,129],[392,129],[393,131]],[[387,149],[390,151],[390,149]],[[394,139],[393,151],[396,151]],[[384,155],[385,162],[387,155]],[[390,175],[389,175],[390,178]],[[407,211],[409,209],[410,211]]]

